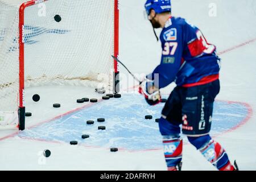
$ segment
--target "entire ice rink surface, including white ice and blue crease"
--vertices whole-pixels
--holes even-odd
[[[160,43],[144,19],[144,1],[120,0],[120,59],[134,73],[150,73],[160,62]],[[216,16],[209,16],[216,7]],[[174,16],[186,18],[217,46],[222,59],[221,92],[214,105],[211,134],[237,160],[241,170],[256,170],[256,1],[172,0]],[[211,14],[210,14],[211,15]],[[158,31],[159,33],[159,31]],[[27,130],[0,130],[0,170],[166,170],[155,118],[163,104],[147,106],[135,83],[121,70],[122,98],[101,98],[93,88],[57,86],[26,90]],[[174,85],[161,90],[168,97]],[[40,95],[39,102],[32,95]],[[60,108],[52,104],[60,103]],[[153,115],[145,120],[144,115]],[[98,123],[97,118],[105,118]],[[87,120],[94,120],[92,126]],[[98,130],[98,126],[106,130]],[[81,139],[82,134],[90,138]],[[70,140],[79,141],[71,146]],[[183,170],[216,170],[184,137]],[[118,152],[110,152],[118,147]],[[51,150],[44,158],[43,150]]]

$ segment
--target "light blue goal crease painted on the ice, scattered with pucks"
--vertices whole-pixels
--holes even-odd
[[[24,130],[18,136],[65,143],[77,140],[86,146],[119,147],[126,150],[162,148],[162,137],[155,119],[160,118],[163,106],[148,106],[140,95],[125,94],[122,98],[112,98]],[[240,125],[248,112],[242,103],[216,101],[210,134],[218,135]],[[153,119],[146,120],[145,115],[152,115]],[[105,118],[105,122],[97,122],[97,118]],[[86,121],[89,120],[93,120],[94,125],[87,125]],[[98,126],[106,126],[106,130],[98,130]],[[83,134],[90,137],[82,139]]]

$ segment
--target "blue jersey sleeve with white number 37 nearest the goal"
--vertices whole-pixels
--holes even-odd
[[[181,27],[167,28],[163,30],[160,39],[162,42],[161,63],[152,75],[148,75],[148,78],[154,80],[155,86],[159,89],[174,82],[179,72],[183,55],[183,30]]]

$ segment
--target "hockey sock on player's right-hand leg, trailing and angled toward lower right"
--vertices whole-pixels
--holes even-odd
[[[228,154],[220,143],[215,142],[209,135],[193,138],[188,137],[197,150],[204,155],[204,157],[213,164],[220,171],[233,171],[234,167],[229,161]],[[207,142],[205,142],[207,140]],[[204,144],[202,144],[204,143]]]

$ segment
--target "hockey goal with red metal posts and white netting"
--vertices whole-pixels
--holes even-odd
[[[118,0],[0,0],[0,126],[24,129],[30,86],[118,92],[118,11]]]

